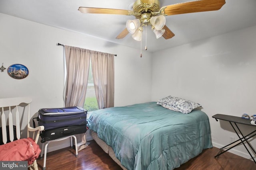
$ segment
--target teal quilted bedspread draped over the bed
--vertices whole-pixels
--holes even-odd
[[[206,113],[183,114],[156,102],[94,111],[88,127],[128,170],[172,170],[212,147]]]

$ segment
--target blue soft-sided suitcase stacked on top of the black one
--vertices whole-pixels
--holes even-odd
[[[79,106],[47,108],[38,111],[38,125],[44,130],[74,125],[86,125],[87,110]]]

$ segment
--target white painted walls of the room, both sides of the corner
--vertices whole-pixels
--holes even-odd
[[[118,55],[115,106],[157,101],[167,95],[200,103],[210,117],[216,147],[226,145],[236,134],[212,115],[255,114],[256,26],[153,54],[144,52],[140,58],[136,49],[1,13],[0,23],[0,64],[6,68],[24,64],[30,71],[22,80],[11,78],[6,70],[0,72],[0,98],[31,97],[31,117],[40,108],[64,106],[63,47],[56,43]],[[256,146],[256,140],[251,143]],[[232,152],[249,158],[243,146]]]

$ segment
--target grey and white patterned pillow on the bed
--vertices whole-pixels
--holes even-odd
[[[180,111],[185,114],[190,113],[196,107],[201,106],[198,103],[172,96],[167,96],[166,98],[158,100],[157,104],[165,107],[166,109]]]

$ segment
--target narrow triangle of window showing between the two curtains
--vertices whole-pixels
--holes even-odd
[[[94,111],[99,109],[95,90],[94,90],[94,84],[93,84],[91,60],[90,60],[90,68],[89,68],[87,90],[86,90],[86,96],[85,96],[85,102],[84,102],[84,109],[88,111]]]

